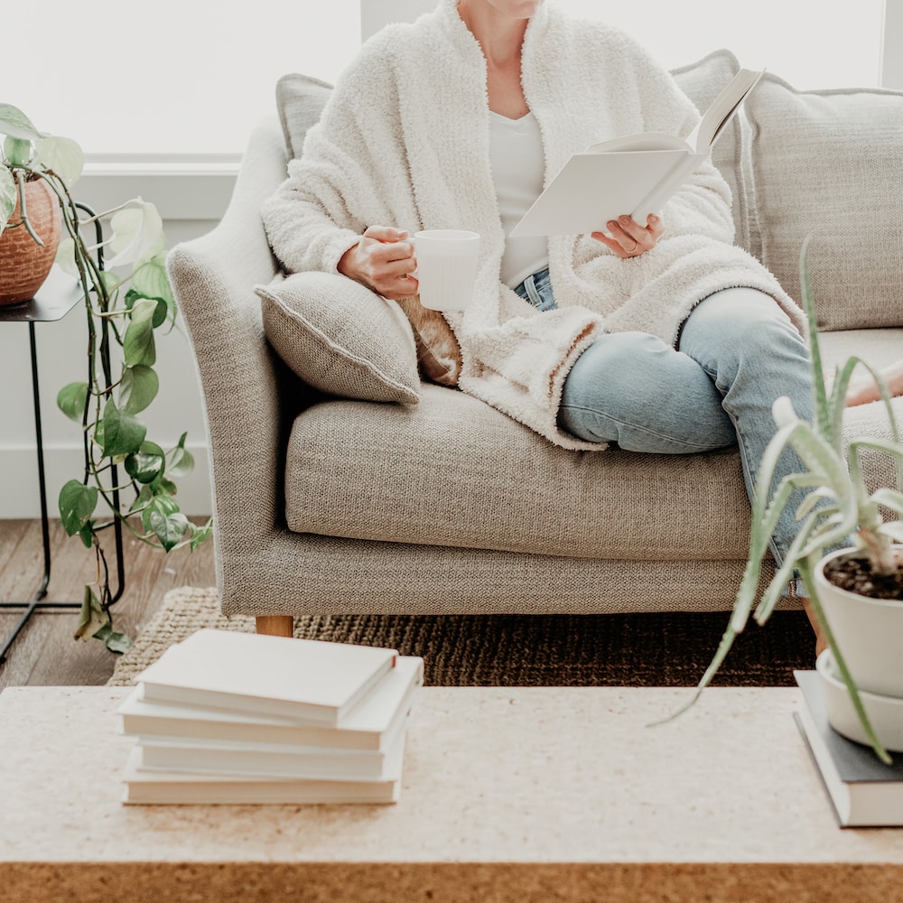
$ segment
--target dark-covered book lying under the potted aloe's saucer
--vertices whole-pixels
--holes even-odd
[[[818,672],[795,671],[802,704],[795,712],[825,793],[843,828],[903,825],[903,754],[885,765],[870,746],[834,731]]]

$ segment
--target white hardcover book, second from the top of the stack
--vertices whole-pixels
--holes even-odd
[[[143,737],[238,740],[385,751],[388,738],[393,735],[398,723],[405,720],[414,694],[423,684],[423,658],[398,656],[396,666],[383,675],[337,727],[275,715],[157,703],[144,699],[143,684],[138,684],[116,711],[123,733]]]

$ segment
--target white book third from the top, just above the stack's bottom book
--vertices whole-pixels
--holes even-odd
[[[401,776],[405,722],[386,752],[326,749],[280,744],[140,738],[143,771],[181,771],[195,775],[294,777],[304,780],[390,781]]]

